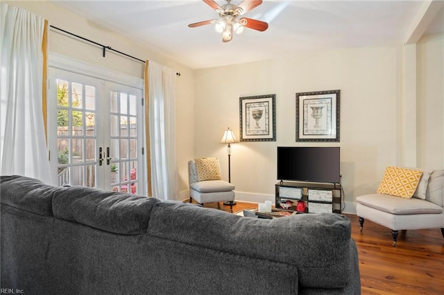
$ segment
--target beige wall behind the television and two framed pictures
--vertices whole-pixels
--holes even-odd
[[[239,137],[239,96],[276,94],[277,141],[232,145],[237,199],[273,199],[277,146],[341,146],[345,211],[355,212],[355,197],[375,192],[386,166],[411,162],[403,158],[402,111],[416,106],[402,108],[403,54],[402,45],[300,52],[293,58],[197,70],[196,156],[219,157],[228,178],[228,157],[219,140],[226,127]],[[442,35],[421,41],[418,60],[418,163],[442,169]],[[335,89],[341,90],[341,142],[296,142],[296,92]]]

